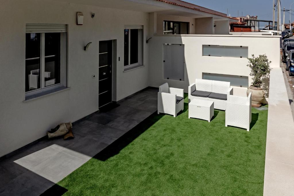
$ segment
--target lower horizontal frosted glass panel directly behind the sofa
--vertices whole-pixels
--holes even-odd
[[[203,73],[202,79],[230,82],[231,86],[248,87],[248,76],[235,76],[218,73]]]

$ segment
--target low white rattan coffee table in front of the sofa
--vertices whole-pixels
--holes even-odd
[[[210,122],[214,115],[213,101],[193,99],[189,103],[189,118],[199,118]]]

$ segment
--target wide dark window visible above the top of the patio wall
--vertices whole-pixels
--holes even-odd
[[[189,34],[188,22],[163,21],[163,34]]]

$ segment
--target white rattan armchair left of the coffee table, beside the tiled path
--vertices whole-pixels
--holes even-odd
[[[170,88],[168,83],[159,86],[157,96],[157,113],[165,113],[173,115],[184,110],[184,90],[179,88]]]

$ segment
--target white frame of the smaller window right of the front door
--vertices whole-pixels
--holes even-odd
[[[143,38],[144,38],[144,28],[142,25],[125,25],[124,29],[128,29],[129,33],[128,33],[128,63],[129,65],[124,65],[124,69],[130,69],[133,67],[138,67],[138,66],[143,66],[143,46],[144,46],[144,42],[143,42]],[[142,38],[142,41],[138,41],[138,63],[133,63],[130,64],[131,62],[131,29],[138,29],[141,30],[142,33],[138,34],[138,40],[140,40],[139,35]],[[141,50],[141,51],[140,51]]]

